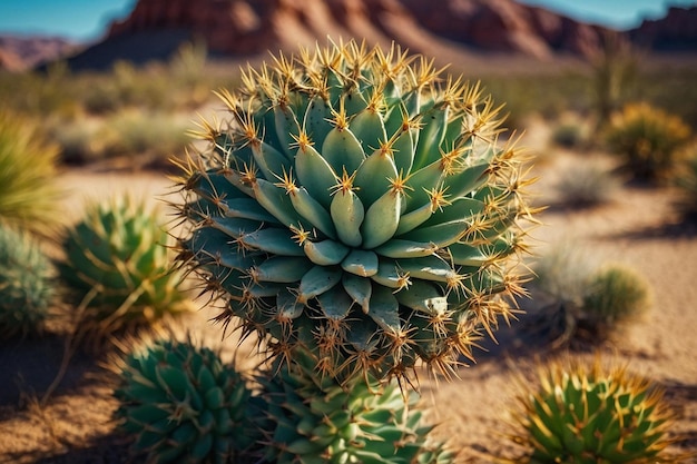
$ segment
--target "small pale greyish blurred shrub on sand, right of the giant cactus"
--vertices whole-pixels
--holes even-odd
[[[562,170],[554,184],[561,205],[585,208],[605,204],[620,188],[620,180],[607,166],[593,159]]]

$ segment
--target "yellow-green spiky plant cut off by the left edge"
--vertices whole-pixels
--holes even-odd
[[[0,111],[0,223],[50,236],[59,221],[58,147],[38,125]]]

